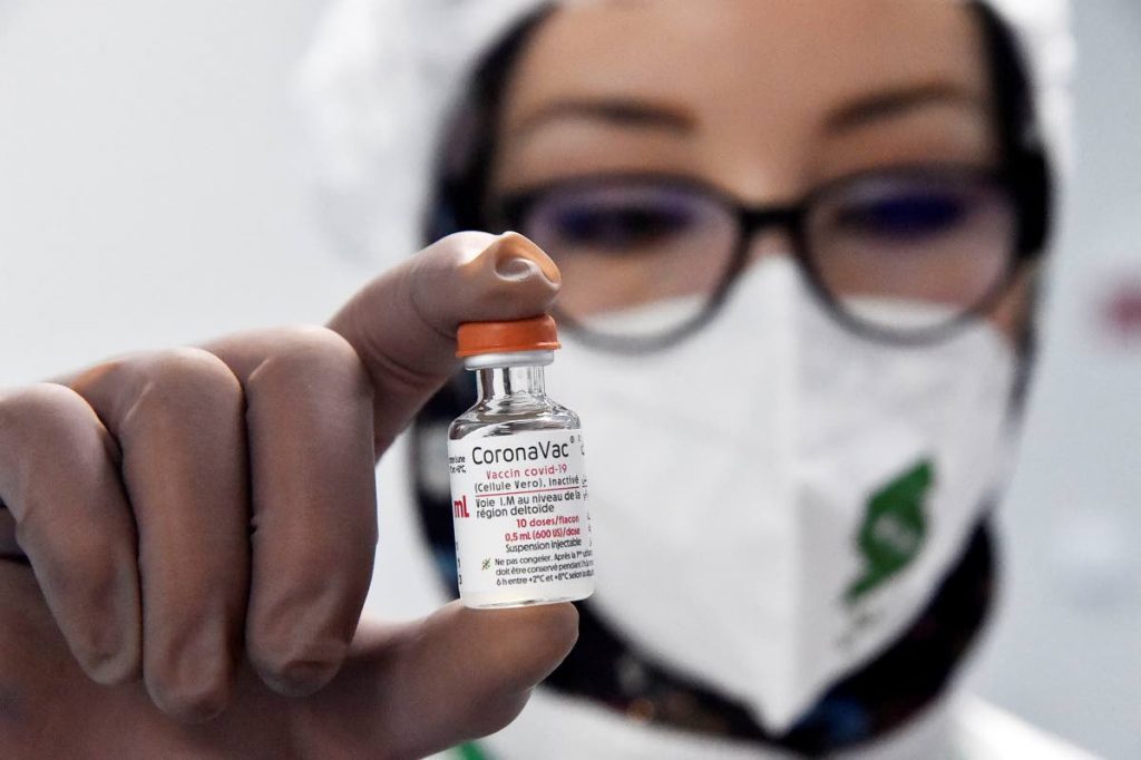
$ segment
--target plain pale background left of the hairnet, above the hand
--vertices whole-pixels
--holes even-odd
[[[0,0],[0,383],[319,322],[362,280],[292,107],[323,7]]]

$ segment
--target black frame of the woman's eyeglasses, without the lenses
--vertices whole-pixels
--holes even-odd
[[[947,322],[916,330],[891,330],[860,320],[845,309],[825,284],[823,273],[811,254],[807,220],[812,209],[819,203],[833,197],[836,193],[855,184],[873,178],[916,180],[924,178],[947,179],[948,177],[988,185],[1008,196],[1015,216],[1015,231],[1011,240],[1011,251],[1006,257],[1006,267],[995,284],[970,307]],[[671,348],[686,340],[707,325],[729,300],[734,286],[745,270],[748,250],[752,241],[761,232],[778,229],[788,235],[792,254],[798,267],[804,274],[812,293],[818,301],[840,324],[851,332],[879,342],[898,346],[924,346],[946,340],[968,324],[995,308],[998,301],[1010,291],[1023,264],[1041,254],[1041,237],[1044,236],[1042,220],[1034,213],[1035,202],[1029,197],[1026,181],[1033,178],[1020,175],[1009,168],[989,168],[971,164],[931,162],[922,164],[900,164],[861,172],[824,183],[810,191],[798,203],[788,205],[750,207],[736,197],[699,180],[671,173],[654,172],[616,172],[610,175],[593,175],[568,178],[547,185],[512,192],[503,196],[493,208],[497,212],[493,218],[499,220],[501,229],[519,229],[526,232],[524,220],[534,207],[553,191],[566,192],[575,187],[589,187],[607,183],[645,183],[662,187],[678,188],[698,193],[729,210],[737,224],[736,243],[725,274],[717,288],[709,294],[702,310],[658,335],[612,335],[592,331],[581,321],[567,314],[565,309],[555,307],[555,315],[560,325],[572,330],[583,342],[604,350],[626,354],[654,353]]]

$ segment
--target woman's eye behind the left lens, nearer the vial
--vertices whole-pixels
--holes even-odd
[[[698,224],[689,209],[650,202],[566,204],[550,223],[564,245],[613,252],[669,245]]]

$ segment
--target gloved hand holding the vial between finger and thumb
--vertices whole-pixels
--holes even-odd
[[[377,458],[455,370],[460,322],[540,314],[558,284],[518,235],[453,235],[327,329],[0,395],[0,754],[405,758],[510,722],[570,605],[357,623]]]

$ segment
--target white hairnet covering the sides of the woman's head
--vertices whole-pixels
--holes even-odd
[[[576,0],[563,0],[576,1]],[[581,0],[577,0],[581,1]],[[1030,58],[1039,122],[1068,163],[1074,45],[1068,0],[988,0]],[[543,0],[339,0],[301,70],[323,215],[369,262],[418,248],[435,139],[464,76]]]

